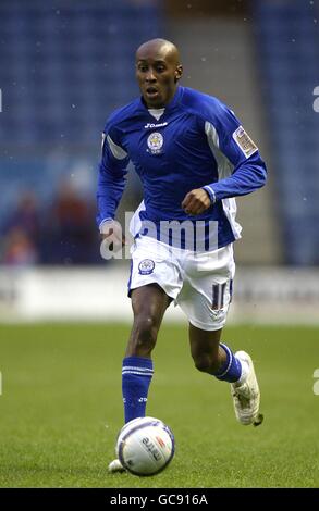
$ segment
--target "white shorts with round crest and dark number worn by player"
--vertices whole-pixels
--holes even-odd
[[[204,331],[224,326],[235,275],[232,244],[213,252],[193,252],[144,236],[134,241],[131,254],[128,296],[156,283],[192,325]]]

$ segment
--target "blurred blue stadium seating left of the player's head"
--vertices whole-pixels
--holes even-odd
[[[161,34],[160,3],[1,0],[0,223],[21,190],[46,201],[83,161],[93,192],[105,122],[138,94],[134,53]]]

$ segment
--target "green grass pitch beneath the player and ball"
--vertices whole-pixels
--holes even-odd
[[[242,426],[229,384],[194,369],[187,327],[164,324],[147,414],[176,453],[152,477],[109,474],[122,426],[128,325],[0,326],[1,487],[318,487],[318,328],[226,327],[255,361],[265,422]]]

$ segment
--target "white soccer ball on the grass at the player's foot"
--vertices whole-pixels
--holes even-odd
[[[155,475],[164,470],[174,456],[174,435],[155,417],[138,417],[122,427],[116,440],[116,457],[134,475]]]

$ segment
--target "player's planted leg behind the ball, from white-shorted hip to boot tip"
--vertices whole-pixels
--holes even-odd
[[[125,422],[145,416],[148,388],[152,377],[151,351],[163,314],[182,287],[179,265],[170,247],[148,237],[137,238],[132,250],[128,294],[134,323],[122,367]],[[119,460],[110,472],[124,471]]]

